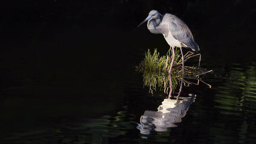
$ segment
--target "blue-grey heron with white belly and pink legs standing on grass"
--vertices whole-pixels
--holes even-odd
[[[172,50],[171,68],[174,63],[174,47],[180,48],[182,55],[182,74],[184,75],[184,56],[182,53],[182,47],[190,47],[196,52],[199,50],[199,47],[194,41],[193,35],[188,26],[175,15],[168,13],[161,15],[156,10],[150,11],[148,17],[142,21],[141,24],[146,21],[147,29],[149,29],[151,33],[163,34],[165,40],[170,45],[170,49]],[[169,69],[169,73],[171,73],[171,68]]]

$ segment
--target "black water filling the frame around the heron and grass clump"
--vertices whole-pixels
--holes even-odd
[[[181,18],[201,67],[214,71],[201,76],[212,88],[183,87],[193,100],[168,109],[179,120],[161,129],[153,114],[168,95],[149,93],[135,71],[148,48],[169,48],[137,28],[151,9]],[[256,143],[255,2],[57,0],[2,10],[1,144]],[[151,124],[141,128],[142,115]]]

